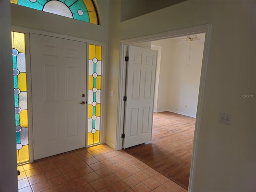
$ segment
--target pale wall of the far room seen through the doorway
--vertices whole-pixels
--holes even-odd
[[[157,110],[196,117],[204,45],[176,45],[183,38],[152,42],[162,47]]]

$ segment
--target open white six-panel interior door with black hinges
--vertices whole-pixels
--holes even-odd
[[[151,140],[156,54],[156,50],[129,46],[123,148]]]

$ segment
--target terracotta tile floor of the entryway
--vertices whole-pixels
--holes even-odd
[[[19,192],[187,192],[106,144],[36,160],[18,170]]]

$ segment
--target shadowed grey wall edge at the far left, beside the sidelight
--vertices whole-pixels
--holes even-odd
[[[10,2],[0,1],[1,24],[1,152],[0,191],[18,192],[13,94]]]

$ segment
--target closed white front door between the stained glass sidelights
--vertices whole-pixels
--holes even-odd
[[[30,34],[30,50],[34,160],[85,147],[86,43]]]

